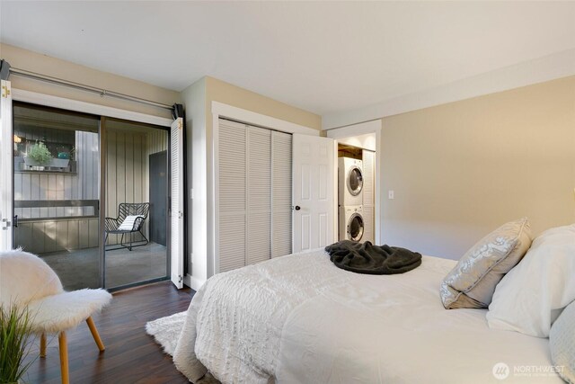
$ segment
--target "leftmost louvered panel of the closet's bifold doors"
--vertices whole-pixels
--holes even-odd
[[[219,121],[219,271],[246,263],[246,128]]]

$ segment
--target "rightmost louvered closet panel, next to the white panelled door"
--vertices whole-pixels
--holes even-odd
[[[271,257],[291,254],[291,135],[271,132]]]

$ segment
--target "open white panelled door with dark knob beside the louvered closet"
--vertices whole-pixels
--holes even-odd
[[[294,134],[294,253],[336,241],[335,146],[332,138]]]

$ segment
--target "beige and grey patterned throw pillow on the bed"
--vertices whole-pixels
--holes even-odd
[[[531,246],[531,230],[526,218],[510,221],[475,244],[441,281],[443,306],[487,308],[501,278],[511,270]]]

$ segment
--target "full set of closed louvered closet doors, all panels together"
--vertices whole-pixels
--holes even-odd
[[[216,272],[291,254],[291,145],[288,133],[220,119]]]

